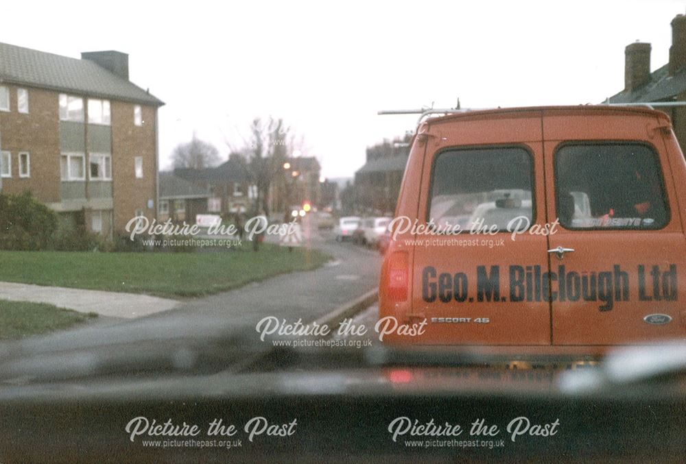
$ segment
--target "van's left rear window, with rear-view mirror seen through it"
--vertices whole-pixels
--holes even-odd
[[[431,171],[429,217],[440,229],[507,230],[517,217],[534,222],[533,168],[522,147],[443,151]]]

